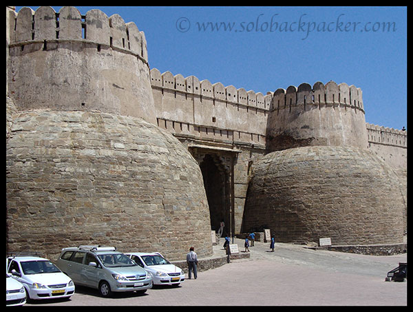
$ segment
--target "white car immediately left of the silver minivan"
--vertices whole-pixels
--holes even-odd
[[[11,256],[7,268],[12,278],[23,284],[28,300],[70,298],[74,294],[72,279],[45,258]]]

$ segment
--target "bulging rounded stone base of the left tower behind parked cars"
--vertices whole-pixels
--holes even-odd
[[[7,144],[8,250],[115,245],[182,259],[212,253],[200,168],[140,118],[34,110],[13,115]]]

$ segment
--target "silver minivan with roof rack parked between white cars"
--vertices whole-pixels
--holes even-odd
[[[63,248],[57,266],[74,284],[98,289],[104,297],[114,292],[152,288],[151,273],[115,247],[79,246]]]

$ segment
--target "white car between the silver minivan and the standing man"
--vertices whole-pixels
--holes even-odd
[[[153,276],[153,284],[178,285],[185,280],[184,271],[156,253],[125,253],[136,264],[144,268]]]

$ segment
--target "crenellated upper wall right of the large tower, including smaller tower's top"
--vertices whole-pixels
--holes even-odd
[[[156,68],[150,74],[157,125],[178,136],[268,151],[355,146],[371,149],[393,167],[407,166],[407,132],[366,123],[362,91],[354,85],[302,83],[264,95]]]

